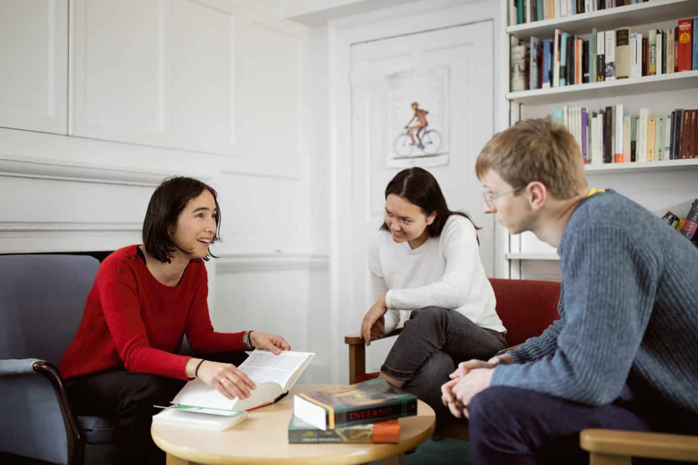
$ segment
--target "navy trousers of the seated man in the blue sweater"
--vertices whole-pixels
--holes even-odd
[[[588,464],[588,453],[579,448],[579,432],[585,428],[698,433],[696,419],[688,413],[627,397],[589,406],[533,390],[492,386],[473,397],[468,411],[470,450],[478,465]]]

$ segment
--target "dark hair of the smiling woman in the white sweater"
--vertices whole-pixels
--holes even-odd
[[[443,197],[441,188],[436,181],[436,178],[424,168],[413,167],[406,168],[395,175],[385,188],[385,198],[388,195],[394,194],[402,197],[422,208],[424,215],[431,215],[431,212],[436,211],[436,218],[426,227],[429,230],[429,236],[438,237],[443,230],[444,224],[450,215],[460,215],[468,218],[475,229],[482,229],[475,225],[473,219],[462,211],[450,211],[446,204],[446,199]],[[385,221],[380,227],[385,231],[390,231],[390,228]],[[478,240],[479,242],[479,240]]]

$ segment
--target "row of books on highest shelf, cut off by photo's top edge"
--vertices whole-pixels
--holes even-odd
[[[649,0],[509,0],[509,25],[591,13]]]

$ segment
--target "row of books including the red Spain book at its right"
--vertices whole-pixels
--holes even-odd
[[[698,17],[667,30],[591,30],[587,39],[556,29],[528,42],[512,36],[512,92],[698,69]]]

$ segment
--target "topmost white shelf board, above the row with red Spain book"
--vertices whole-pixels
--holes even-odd
[[[562,29],[570,34],[588,34],[593,27],[599,31],[607,31],[621,26],[632,27],[695,16],[698,16],[696,0],[650,0],[591,13],[558,17],[554,20],[507,26],[505,32],[522,40],[531,36],[542,40],[552,38],[555,29]]]

